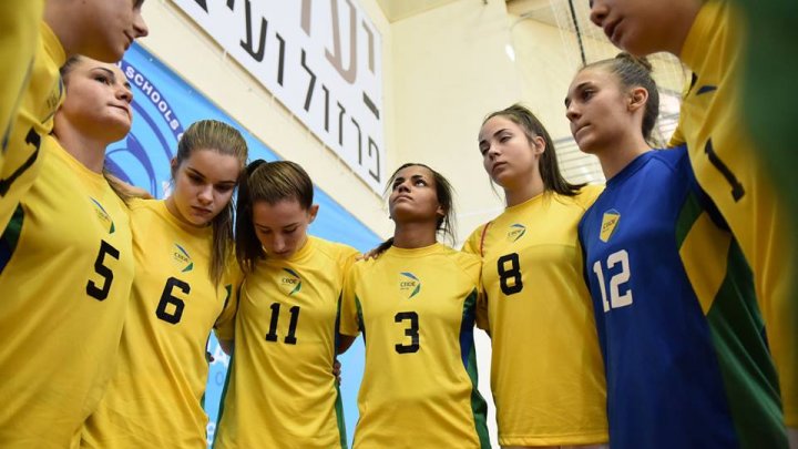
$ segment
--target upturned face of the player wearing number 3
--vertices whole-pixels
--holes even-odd
[[[420,165],[407,166],[393,176],[388,208],[397,223],[438,222],[446,211],[438,202],[432,172]]]

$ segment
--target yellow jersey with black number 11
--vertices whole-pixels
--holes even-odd
[[[344,279],[358,252],[309,236],[242,285],[215,448],[346,448],[332,375]]]

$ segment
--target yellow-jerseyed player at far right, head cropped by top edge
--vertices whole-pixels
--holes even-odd
[[[636,55],[667,51],[693,71],[671,146],[686,144],[698,184],[717,205],[754,271],[798,447],[798,298],[790,223],[740,103],[745,22],[727,0],[593,0],[591,20]]]

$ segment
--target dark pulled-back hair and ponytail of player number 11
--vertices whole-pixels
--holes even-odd
[[[242,173],[236,210],[236,258],[245,273],[252,273],[258,259],[266,257],[253,226],[255,203],[270,205],[296,201],[304,211],[313,205],[313,181],[296,162],[253,161]]]

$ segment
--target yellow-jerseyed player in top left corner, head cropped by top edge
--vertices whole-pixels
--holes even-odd
[[[41,0],[3,1],[16,6],[18,14],[39,14],[39,39],[30,65],[29,84],[23,92],[11,92],[0,96],[0,111],[14,108],[19,110],[12,121],[10,132],[0,130],[3,139],[3,154],[0,154],[0,232],[6,229],[22,198],[35,180],[47,147],[42,145],[44,136],[53,127],[53,114],[63,101],[63,84],[59,69],[75,54],[83,54],[104,62],[116,62],[131,45],[147,34],[147,28],[141,16],[144,0],[47,0],[43,2],[41,20]],[[34,12],[35,10],[35,12]],[[17,53],[25,43],[9,41],[0,47],[0,55]],[[24,58],[24,57],[22,57]],[[12,64],[3,72],[27,71],[29,64],[21,61],[7,61]],[[11,103],[10,105],[8,103]],[[8,141],[6,142],[6,139]]]

